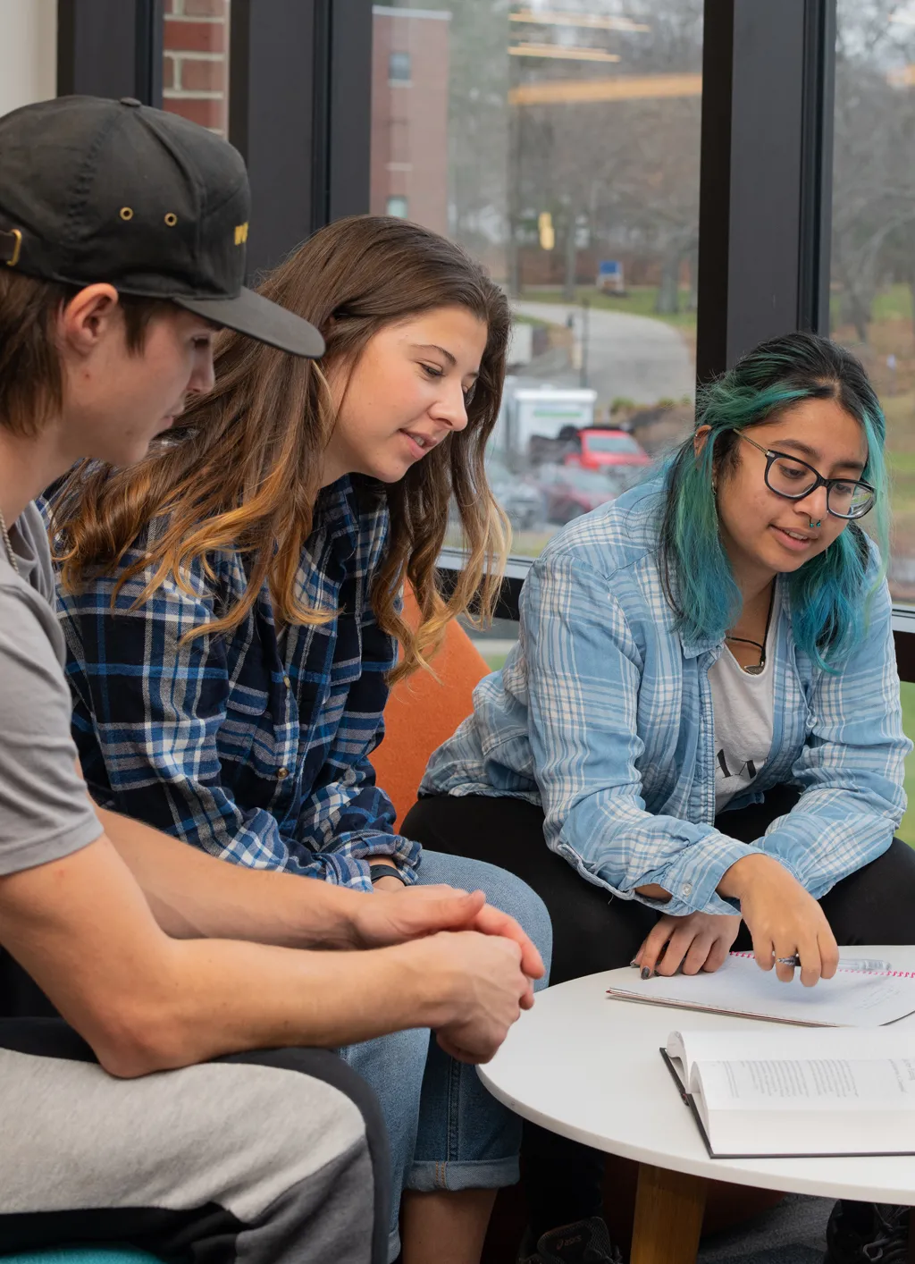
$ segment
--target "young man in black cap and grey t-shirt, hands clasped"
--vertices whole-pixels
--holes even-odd
[[[248,217],[239,155],[173,115],[0,119],[0,945],[66,1019],[0,1019],[0,1253],[383,1260],[383,1126],[320,1047],[431,1026],[484,1060],[542,969],[479,894],[238,868],[86,795],[30,502],[140,459],[211,387],[215,326],[321,354],[243,288]]]

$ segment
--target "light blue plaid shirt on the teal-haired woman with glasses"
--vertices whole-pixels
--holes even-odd
[[[547,846],[583,877],[674,915],[733,913],[717,894],[747,851],[775,854],[820,899],[885,852],[902,813],[899,676],[886,583],[843,671],[791,637],[787,585],[773,661],[772,747],[753,793],[792,782],[795,809],[752,847],[715,829],[709,667],[722,642],[672,629],[657,561],[658,480],[550,541],[521,598],[521,633],[474,713],[430,760],[421,794],[509,795],[542,805]],[[636,895],[657,882],[661,904]]]

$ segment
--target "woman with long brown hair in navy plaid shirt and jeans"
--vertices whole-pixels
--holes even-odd
[[[484,612],[495,597],[506,541],[484,453],[506,298],[460,248],[380,217],[322,229],[260,292],[321,330],[325,358],[224,336],[215,391],[144,463],[80,468],[53,501],[86,780],[104,806],[235,863],[367,892],[418,882],[417,899],[482,887],[547,951],[521,881],[394,833],[368,760],[389,683],[478,592]],[[444,599],[452,497],[468,560]],[[404,1264],[431,1243],[442,1264],[475,1260],[495,1188],[517,1179],[517,1120],[450,1054],[416,1031],[344,1050],[382,1098],[409,1191]]]

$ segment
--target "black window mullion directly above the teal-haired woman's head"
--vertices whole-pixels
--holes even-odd
[[[706,0],[698,375],[828,326],[835,0]]]

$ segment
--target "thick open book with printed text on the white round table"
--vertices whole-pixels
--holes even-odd
[[[671,1031],[713,1159],[915,1153],[915,1030]]]

